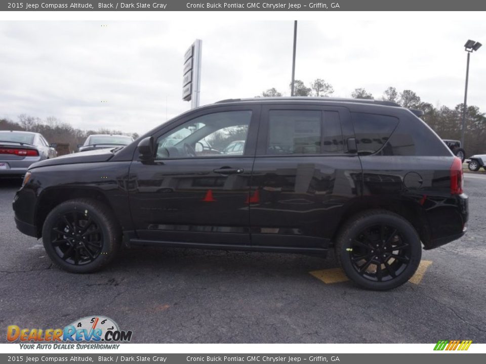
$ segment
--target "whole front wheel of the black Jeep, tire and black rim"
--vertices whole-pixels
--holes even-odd
[[[75,199],[59,204],[47,215],[42,238],[56,265],[73,273],[90,273],[114,258],[120,247],[121,229],[104,204]]]

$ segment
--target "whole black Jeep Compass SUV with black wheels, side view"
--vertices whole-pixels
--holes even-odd
[[[33,164],[17,227],[71,272],[104,267],[121,245],[334,249],[361,287],[394,288],[422,245],[460,238],[468,218],[461,161],[416,115],[328,98],[200,107],[123,149]]]

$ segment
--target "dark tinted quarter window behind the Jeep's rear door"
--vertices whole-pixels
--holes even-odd
[[[351,113],[359,154],[378,152],[398,125],[398,118],[388,115]]]

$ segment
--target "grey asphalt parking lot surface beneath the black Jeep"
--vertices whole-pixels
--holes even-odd
[[[18,188],[0,180],[2,342],[8,325],[58,328],[89,315],[139,343],[486,342],[486,175],[466,173],[468,234],[424,251],[414,282],[388,292],[343,282],[327,270],[332,255],[137,248],[104,271],[69,274],[16,230]]]

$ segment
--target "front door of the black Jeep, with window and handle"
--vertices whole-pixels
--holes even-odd
[[[154,160],[135,156],[130,168],[130,206],[139,239],[249,244],[259,109],[196,111],[154,133]],[[231,144],[243,148],[236,152]]]

